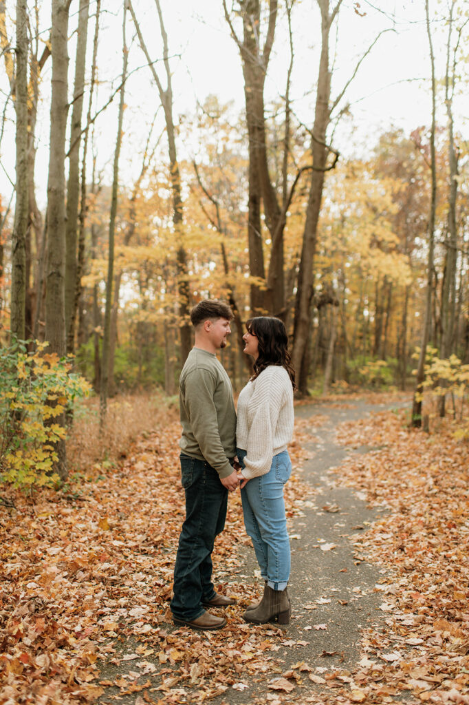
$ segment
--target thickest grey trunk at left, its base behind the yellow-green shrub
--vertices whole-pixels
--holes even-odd
[[[47,232],[46,340],[49,350],[65,355],[65,132],[68,113],[68,12],[70,0],[52,0],[52,97]],[[65,425],[64,415],[55,421]],[[67,477],[65,441],[57,443],[56,471]]]

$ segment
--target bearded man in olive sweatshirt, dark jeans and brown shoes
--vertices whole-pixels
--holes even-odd
[[[212,559],[215,537],[225,527],[228,491],[239,484],[235,465],[236,412],[230,378],[215,353],[227,345],[232,310],[223,301],[204,300],[191,312],[195,344],[180,376],[180,440],[186,518],[174,570],[173,621],[214,630],[226,620],[206,607],[232,605],[215,593]]]

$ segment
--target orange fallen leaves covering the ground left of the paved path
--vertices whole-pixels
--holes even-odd
[[[305,457],[301,425],[294,470]],[[253,629],[241,618],[259,587],[250,577],[240,582],[237,550],[250,539],[239,494],[230,496],[213,553],[216,587],[237,599],[226,610],[227,627],[173,625],[169,600],[185,513],[179,436],[173,415],[106,477],[70,482],[68,494],[41,491],[34,504],[18,495],[14,509],[0,509],[2,705],[107,701],[115,689],[142,692],[149,703],[201,702],[249,687],[242,678],[281,670],[272,654],[284,632]],[[293,517],[296,497],[305,496],[301,481],[293,479],[285,494]],[[101,677],[109,663],[118,677]]]

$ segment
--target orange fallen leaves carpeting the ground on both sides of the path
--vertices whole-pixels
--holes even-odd
[[[286,487],[289,517],[302,515],[313,492],[300,479],[312,422],[301,419],[290,449],[296,472]],[[238,495],[230,496],[213,555],[217,588],[238,601],[226,610],[227,627],[193,632],[170,620],[184,518],[178,437],[170,418],[105,479],[77,485],[77,501],[42,491],[34,505],[15,497],[14,510],[1,510],[1,705],[111,703],[124,694],[135,694],[136,705],[213,697],[227,705],[232,689],[252,682],[265,683],[253,704],[405,697],[469,705],[468,446],[450,434],[408,431],[390,412],[339,427],[342,443],[380,445],[346,460],[340,477],[388,510],[353,536],[357,553],[386,569],[376,587],[385,627],[363,630],[353,670],[327,666],[328,656],[340,654],[323,651],[325,668],[313,668],[314,653],[311,665],[283,671],[280,646],[309,642],[241,618],[258,587],[242,582],[237,550],[250,540]],[[108,663],[118,677],[101,676]]]

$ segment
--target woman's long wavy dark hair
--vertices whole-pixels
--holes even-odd
[[[256,336],[258,342],[258,357],[254,362],[251,381],[270,364],[277,364],[287,370],[292,386],[296,389],[295,372],[292,367],[292,357],[288,352],[288,336],[284,322],[273,316],[256,316],[246,321],[246,331]]]

